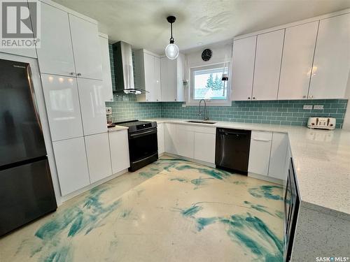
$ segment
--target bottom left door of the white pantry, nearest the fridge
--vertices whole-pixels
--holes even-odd
[[[52,142],[62,196],[90,184],[84,138]]]

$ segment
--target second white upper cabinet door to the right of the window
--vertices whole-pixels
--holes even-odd
[[[253,80],[253,100],[277,99],[283,37],[284,29],[258,35]]]

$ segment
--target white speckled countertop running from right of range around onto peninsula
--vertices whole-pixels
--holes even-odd
[[[221,121],[197,124],[173,118],[147,120],[288,133],[302,204],[350,221],[350,131]]]

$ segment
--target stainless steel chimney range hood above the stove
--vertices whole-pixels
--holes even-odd
[[[132,47],[119,41],[113,44],[114,78],[116,80],[116,94],[141,94],[144,89],[135,88],[134,69],[132,67]]]

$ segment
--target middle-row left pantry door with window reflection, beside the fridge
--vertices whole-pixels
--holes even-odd
[[[41,74],[52,141],[83,136],[76,78]]]

